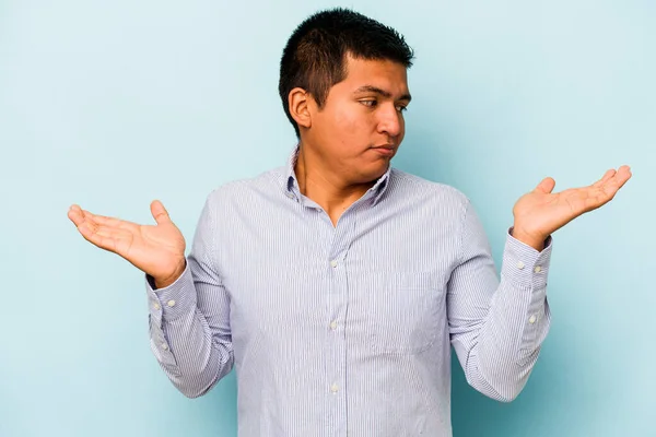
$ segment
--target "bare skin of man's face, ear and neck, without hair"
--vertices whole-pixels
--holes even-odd
[[[411,98],[403,66],[350,56],[347,66],[345,80],[330,88],[323,108],[303,88],[289,98],[301,131],[300,190],[333,225],[387,170],[403,140]]]

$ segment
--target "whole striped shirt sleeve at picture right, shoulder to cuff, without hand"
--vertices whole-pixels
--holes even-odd
[[[506,236],[501,280],[488,238],[468,203],[459,263],[447,288],[450,341],[469,385],[504,402],[523,390],[550,326],[551,237],[538,252]]]

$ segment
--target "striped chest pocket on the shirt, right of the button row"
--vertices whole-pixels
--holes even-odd
[[[441,338],[444,286],[429,273],[387,276],[370,299],[371,343],[374,352],[414,355]]]

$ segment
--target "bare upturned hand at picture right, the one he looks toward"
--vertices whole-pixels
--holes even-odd
[[[544,240],[577,216],[608,203],[631,178],[629,166],[610,169],[588,187],[551,192],[552,178],[544,178],[535,190],[524,194],[513,208],[513,237],[541,251]]]

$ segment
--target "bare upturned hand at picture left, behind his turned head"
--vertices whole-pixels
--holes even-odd
[[[70,208],[68,216],[87,241],[118,253],[151,275],[157,288],[163,288],[185,271],[185,237],[168,217],[162,202],[153,201],[151,213],[156,225],[139,225],[92,214],[77,204]]]

